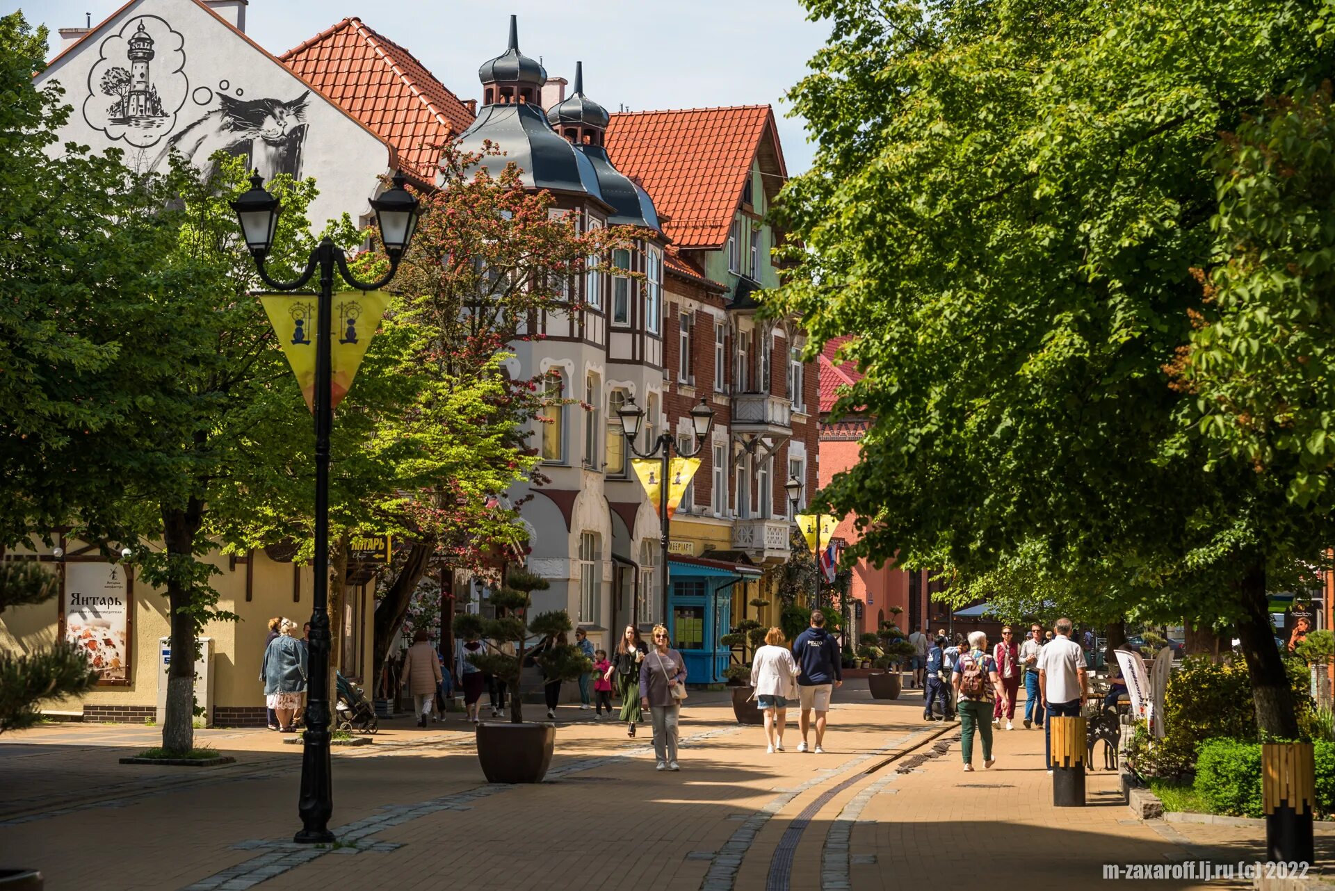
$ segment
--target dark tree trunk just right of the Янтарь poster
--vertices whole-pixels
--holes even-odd
[[[171,666],[167,668],[167,710],[163,716],[163,748],[186,755],[195,747],[195,618],[190,614],[192,582],[188,566],[195,562],[195,535],[203,522],[203,504],[191,498],[186,508],[163,507],[163,546],[171,555],[167,602],[171,607]]]

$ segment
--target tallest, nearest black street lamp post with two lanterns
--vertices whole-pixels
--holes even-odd
[[[332,368],[330,360],[330,324],[334,303],[334,268],[354,288],[374,291],[394,279],[399,260],[413,240],[417,228],[418,201],[403,188],[403,175],[395,175],[394,188],[371,201],[384,251],[390,255],[390,271],[379,281],[363,283],[347,268],[347,256],[328,237],[314,251],[306,269],[294,281],[276,281],[264,269],[264,257],[274,244],[280,203],[264,189],[259,173],[251,177],[251,188],[231,203],[240,220],[246,247],[255,259],[255,268],[264,284],[278,291],[296,291],[320,273],[320,292],[315,317],[315,584],[311,612],[308,698],[306,700],[306,734],[302,746],[302,792],[298,811],[302,830],[295,842],[327,843],[334,840],[328,830],[334,811],[334,790],[330,770],[330,700],[328,700],[328,490],[330,490],[330,427],[334,411],[330,403]]]

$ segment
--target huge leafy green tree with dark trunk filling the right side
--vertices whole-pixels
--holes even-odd
[[[1232,620],[1258,724],[1295,736],[1266,588],[1335,530],[1184,433],[1165,367],[1204,305],[1218,133],[1326,76],[1322,4],[806,5],[833,39],[793,91],[820,149],[782,195],[778,304],[813,345],[860,332],[840,408],[874,420],[825,492],[868,518],[853,552],[960,599]]]

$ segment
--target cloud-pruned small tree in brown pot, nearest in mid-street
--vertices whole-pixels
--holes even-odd
[[[526,622],[531,594],[546,590],[547,580],[522,567],[511,567],[502,587],[491,594],[491,606],[501,615],[483,619],[479,615],[461,615],[454,628],[462,635],[487,640],[489,652],[469,656],[469,662],[482,671],[495,675],[506,684],[510,699],[510,720],[478,724],[478,762],[491,783],[541,783],[551,764],[557,742],[557,728],[549,723],[526,723],[521,696],[522,667],[529,656],[529,638],[555,638],[571,630],[570,615],[565,610],[541,612]],[[506,647],[514,652],[509,652]],[[543,675],[551,680],[574,680],[593,666],[574,644],[558,644],[539,658]]]

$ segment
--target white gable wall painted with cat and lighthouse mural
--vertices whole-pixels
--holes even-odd
[[[60,143],[121,148],[136,171],[170,151],[198,167],[218,149],[315,177],[311,224],[370,212],[388,147],[195,0],[135,0],[37,76],[73,107]],[[53,147],[59,151],[59,145]]]

